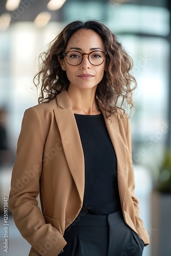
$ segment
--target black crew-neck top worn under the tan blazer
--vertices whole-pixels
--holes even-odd
[[[74,115],[85,162],[83,206],[92,214],[109,215],[121,206],[117,158],[103,115]]]

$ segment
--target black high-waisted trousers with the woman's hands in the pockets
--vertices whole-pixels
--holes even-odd
[[[80,211],[63,237],[67,245],[61,256],[141,256],[144,248],[121,211],[108,216]]]

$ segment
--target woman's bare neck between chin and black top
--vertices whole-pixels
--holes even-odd
[[[100,113],[95,100],[96,88],[74,89],[69,87],[68,94],[75,114],[97,115]]]

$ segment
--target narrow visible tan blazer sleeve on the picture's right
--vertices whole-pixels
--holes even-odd
[[[140,238],[145,242],[145,245],[149,244],[149,236],[146,229],[143,227],[143,221],[139,217],[140,210],[138,205],[138,199],[135,196],[134,189],[135,189],[135,179],[134,179],[134,169],[133,169],[133,161],[132,161],[132,136],[131,136],[131,125],[130,119],[126,118],[127,120],[127,128],[126,128],[126,139],[127,145],[129,148],[130,153],[130,161],[129,161],[129,174],[128,174],[128,187],[131,193],[131,197],[134,203],[135,208],[135,220],[136,220],[136,229],[139,233]]]

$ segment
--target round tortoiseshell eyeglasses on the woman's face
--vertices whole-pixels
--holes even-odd
[[[66,56],[66,60],[71,66],[78,66],[83,60],[83,55],[88,55],[89,62],[93,66],[99,66],[103,63],[104,57],[107,53],[104,51],[92,51],[90,53],[81,53],[78,51],[68,51],[64,52],[63,55]]]

